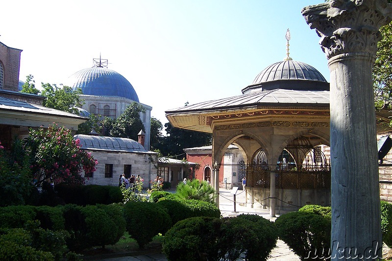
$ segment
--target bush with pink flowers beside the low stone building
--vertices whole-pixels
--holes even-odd
[[[74,140],[71,130],[53,123],[45,129],[30,129],[26,150],[31,152],[31,169],[37,183],[51,179],[55,183],[84,184],[80,173],[94,172],[98,161],[89,152],[81,149],[79,140]]]

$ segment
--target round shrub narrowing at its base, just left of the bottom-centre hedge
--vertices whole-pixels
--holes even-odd
[[[169,214],[155,203],[128,201],[123,211],[126,231],[140,248],[144,248],[159,233],[165,234],[171,227]]]

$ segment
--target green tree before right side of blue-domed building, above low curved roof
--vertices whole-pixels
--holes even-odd
[[[132,102],[123,114],[115,120],[113,129],[110,134],[113,137],[129,138],[138,140],[140,130],[146,131],[143,121],[140,119],[140,113],[145,112],[146,109],[137,102]]]

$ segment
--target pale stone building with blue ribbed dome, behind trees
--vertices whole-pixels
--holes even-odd
[[[118,118],[132,102],[139,102],[139,97],[131,83],[120,73],[107,68],[107,60],[94,59],[91,68],[75,72],[68,78],[68,85],[76,90],[80,88],[84,100],[82,109],[90,114],[100,115],[101,119]],[[144,147],[149,149],[150,117],[152,107],[140,103],[146,111],[141,113],[145,130]]]

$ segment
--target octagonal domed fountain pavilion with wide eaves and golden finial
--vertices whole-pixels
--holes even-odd
[[[213,134],[213,187],[223,184],[222,158],[234,144],[245,162],[248,206],[274,216],[330,205],[329,83],[287,50],[242,93],[166,111],[174,127]]]

